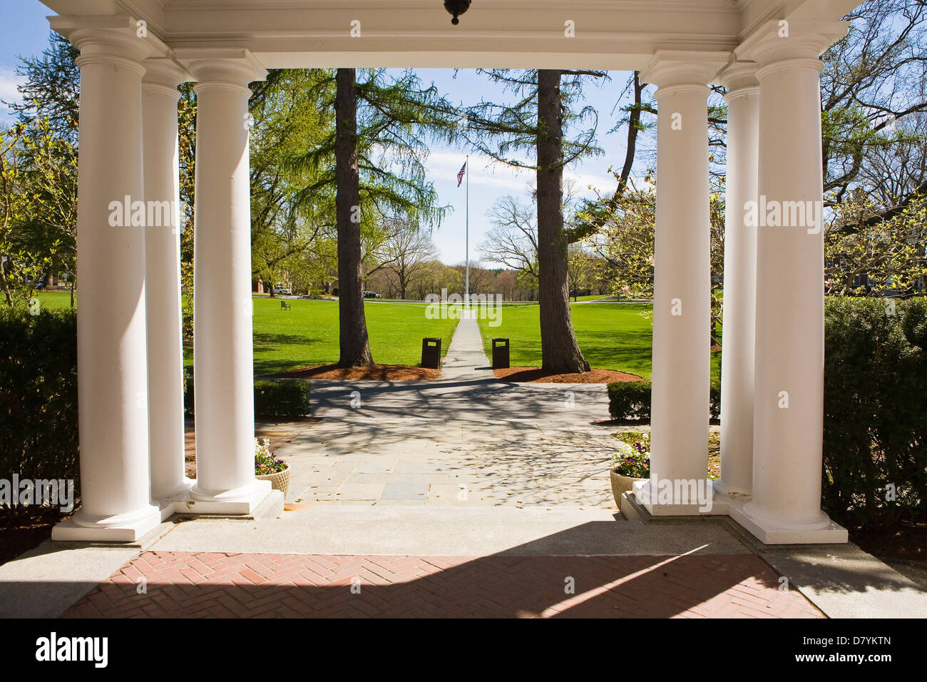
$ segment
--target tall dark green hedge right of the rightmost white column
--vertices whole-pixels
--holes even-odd
[[[835,521],[884,528],[925,518],[925,345],[922,299],[827,302],[821,505]]]

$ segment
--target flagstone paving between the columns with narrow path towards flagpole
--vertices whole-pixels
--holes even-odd
[[[311,425],[277,449],[287,503],[615,508],[602,384],[495,380],[475,319],[438,380],[313,381]]]

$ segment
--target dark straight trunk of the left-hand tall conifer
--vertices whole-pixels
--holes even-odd
[[[361,178],[357,167],[357,92],[353,69],[338,69],[335,97],[335,174],[338,233],[339,367],[374,364],[363,315]]]

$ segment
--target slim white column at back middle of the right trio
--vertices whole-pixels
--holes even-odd
[[[721,352],[721,476],[719,493],[750,495],[753,481],[756,225],[743,210],[756,200],[759,84],[756,64],[727,69],[727,177],[724,222],[724,338]]]

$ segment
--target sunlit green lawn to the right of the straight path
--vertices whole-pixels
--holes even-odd
[[[540,322],[537,305],[503,305],[502,324],[489,327],[479,320],[486,354],[492,339],[508,338],[515,367],[540,367]],[[617,369],[650,379],[653,323],[646,303],[571,303],[573,328],[579,348],[592,367]],[[711,374],[717,379],[720,352],[712,353]]]

